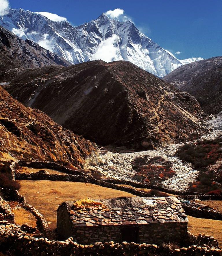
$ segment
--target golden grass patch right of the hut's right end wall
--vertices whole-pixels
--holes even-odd
[[[200,219],[188,216],[188,231],[194,235],[199,233],[212,235],[222,247],[222,220]]]

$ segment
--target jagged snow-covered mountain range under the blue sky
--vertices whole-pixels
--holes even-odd
[[[33,40],[73,64],[103,59],[107,62],[128,60],[164,77],[177,67],[196,58],[178,60],[130,21],[120,22],[101,14],[98,19],[73,27],[67,21],[51,21],[39,13],[10,9],[0,25],[23,39]],[[198,58],[202,59],[202,58]]]

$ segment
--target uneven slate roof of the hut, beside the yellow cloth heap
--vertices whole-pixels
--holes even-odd
[[[75,226],[188,222],[180,201],[174,196],[120,197],[93,201],[102,202],[109,211],[93,208],[73,211],[73,201],[63,203],[67,206]]]

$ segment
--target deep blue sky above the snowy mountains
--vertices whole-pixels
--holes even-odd
[[[73,25],[120,8],[141,32],[179,59],[222,55],[221,0],[9,0],[11,8],[51,12]]]

